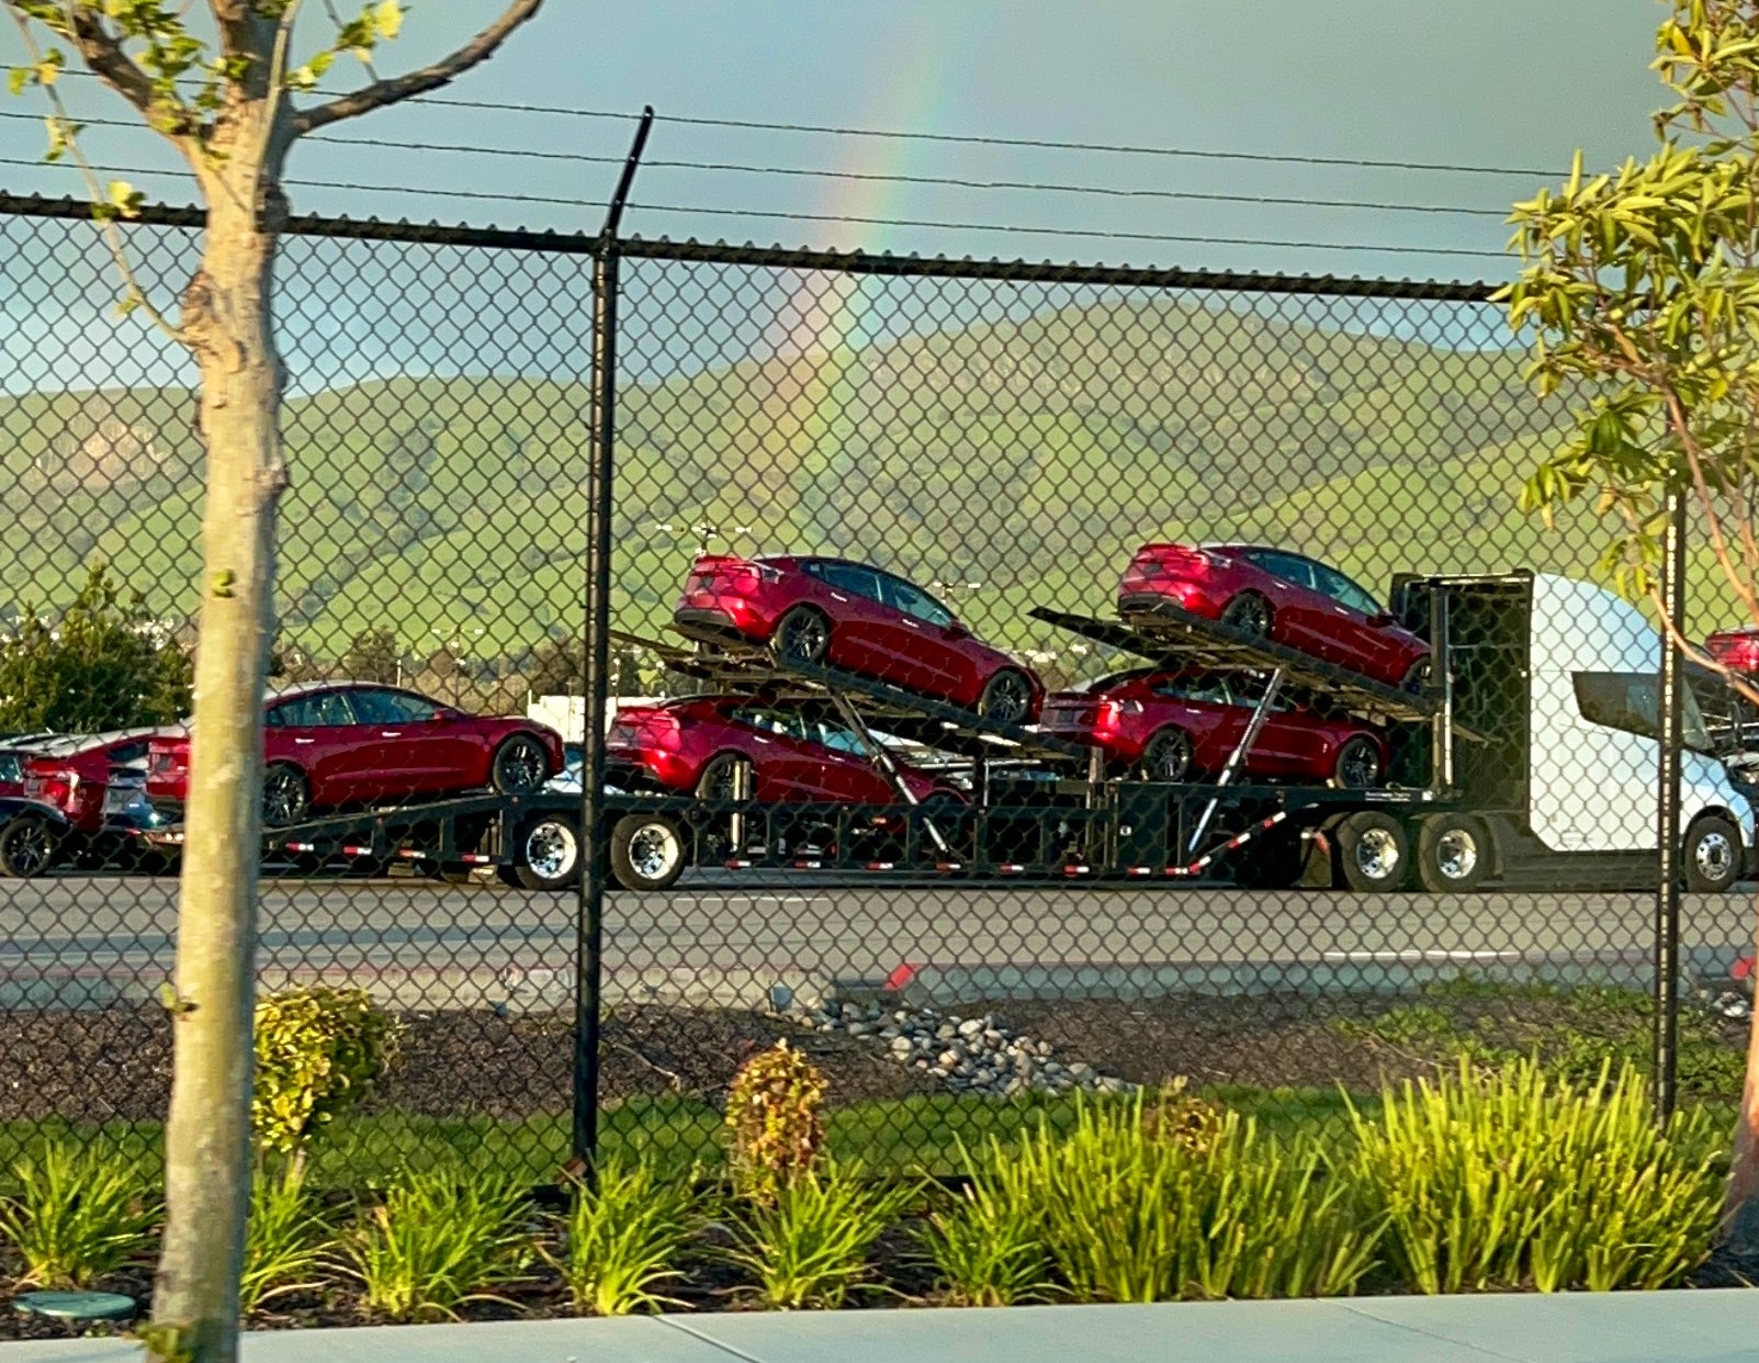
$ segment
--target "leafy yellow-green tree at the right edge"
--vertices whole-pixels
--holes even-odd
[[[1550,522],[1592,499],[1615,524],[1601,566],[1641,600],[1653,598],[1666,499],[1678,491],[1759,624],[1759,0],[1669,9],[1653,69],[1676,102],[1655,116],[1660,149],[1592,178],[1578,151],[1569,183],[1511,218],[1523,269],[1506,299],[1511,324],[1534,338],[1534,382],[1583,397],[1522,503]],[[1724,1228],[1759,1238],[1759,1015]]]

